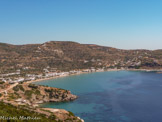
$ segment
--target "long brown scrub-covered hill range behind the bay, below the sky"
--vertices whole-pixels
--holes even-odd
[[[93,44],[50,41],[43,44],[10,45],[0,43],[0,71],[28,67],[41,72],[89,67],[161,68],[162,50],[121,50]]]

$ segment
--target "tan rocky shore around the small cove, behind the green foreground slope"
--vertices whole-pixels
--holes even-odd
[[[3,99],[3,100],[2,100]],[[8,91],[1,93],[0,100],[6,104],[20,106],[28,111],[45,115],[54,121],[84,122],[72,112],[63,109],[41,108],[39,104],[45,102],[65,102],[77,99],[69,90],[47,87],[29,83],[17,84]]]

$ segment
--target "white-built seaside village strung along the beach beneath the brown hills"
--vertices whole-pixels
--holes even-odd
[[[105,68],[94,68],[91,67],[89,69],[82,70],[71,70],[68,72],[61,72],[57,70],[50,69],[49,67],[43,69],[43,73],[41,74],[26,74],[25,76],[21,75],[21,70],[18,69],[12,73],[0,74],[0,81],[7,82],[9,84],[20,83],[20,82],[31,82],[31,81],[39,81],[46,80],[49,78],[55,77],[64,77],[69,75],[77,75],[82,73],[90,73],[90,72],[101,72],[105,71]]]

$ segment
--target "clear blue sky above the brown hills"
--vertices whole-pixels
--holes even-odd
[[[162,0],[0,0],[0,42],[162,49]]]

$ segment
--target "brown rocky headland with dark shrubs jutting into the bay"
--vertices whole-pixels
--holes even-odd
[[[4,99],[19,105],[37,106],[40,103],[72,101],[76,98],[68,90],[23,83],[9,90]]]

